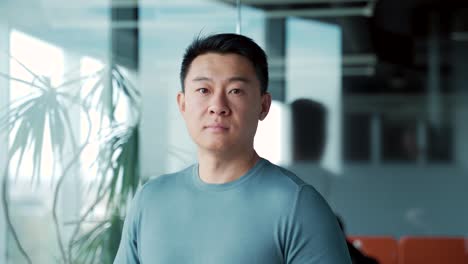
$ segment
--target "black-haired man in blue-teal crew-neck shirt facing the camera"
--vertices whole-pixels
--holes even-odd
[[[323,198],[253,148],[271,103],[263,50],[236,34],[196,39],[180,78],[198,164],[136,194],[114,263],[350,263]]]

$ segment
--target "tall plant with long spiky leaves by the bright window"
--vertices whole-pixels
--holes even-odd
[[[53,162],[61,161],[50,187],[53,191],[50,213],[60,252],[59,262],[112,263],[120,241],[123,215],[141,180],[138,170],[140,94],[125,71],[113,63],[89,75],[64,78],[62,83],[52,85],[46,77],[34,73],[15,58],[10,59],[32,76],[29,81],[0,72],[0,78],[30,89],[27,96],[0,110],[0,133],[11,140],[7,166],[2,172],[1,201],[13,241],[26,262],[33,263],[11,218],[9,195],[14,182],[10,179],[17,176],[25,155],[32,151],[33,172],[29,180],[40,182],[44,162],[42,149],[45,142],[50,142]],[[84,85],[90,87],[86,93],[82,89]],[[123,101],[127,118],[119,120],[116,109]],[[75,135],[71,109],[79,111],[86,120],[88,129],[84,140]],[[99,122],[91,121],[93,111],[99,113]],[[45,137],[49,139],[45,140]],[[94,179],[86,190],[88,199],[82,204],[78,219],[66,223],[58,214],[60,193],[67,177],[74,175],[70,171],[79,170],[80,158],[92,143],[99,144],[99,149],[92,164]],[[11,167],[13,157],[18,157],[16,168]],[[97,208],[105,212],[99,219],[93,214]],[[68,237],[63,235],[65,227],[73,230]]]

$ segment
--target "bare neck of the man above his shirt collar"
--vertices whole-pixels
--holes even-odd
[[[249,171],[260,159],[255,150],[242,155],[198,154],[200,179],[210,184],[234,181]]]

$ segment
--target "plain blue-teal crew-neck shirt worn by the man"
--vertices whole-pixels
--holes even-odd
[[[125,220],[114,264],[348,264],[325,200],[265,159],[207,184],[193,165],[146,183]]]

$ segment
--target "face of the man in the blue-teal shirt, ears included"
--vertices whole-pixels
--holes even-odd
[[[237,54],[196,57],[177,95],[179,110],[199,150],[235,153],[253,148],[259,120],[271,96],[261,95],[250,61]]]

